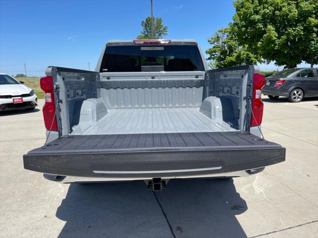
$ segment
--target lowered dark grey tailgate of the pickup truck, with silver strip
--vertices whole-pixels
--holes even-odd
[[[95,178],[227,173],[284,160],[285,148],[239,131],[72,135],[23,156],[28,170]]]

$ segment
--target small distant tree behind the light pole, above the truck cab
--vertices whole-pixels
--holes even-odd
[[[162,37],[167,34],[168,27],[162,25],[162,19],[160,17],[153,17],[153,20],[155,28],[154,39],[162,39]],[[143,30],[140,32],[140,35],[137,36],[137,39],[152,39],[151,22],[152,18],[150,16],[141,22]]]

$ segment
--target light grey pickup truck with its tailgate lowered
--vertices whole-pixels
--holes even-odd
[[[44,146],[24,168],[69,182],[241,177],[285,160],[261,138],[264,76],[209,70],[194,40],[109,41],[95,71],[49,66]]]

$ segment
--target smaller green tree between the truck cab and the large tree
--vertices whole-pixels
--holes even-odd
[[[246,51],[243,46],[239,46],[230,27],[218,30],[208,39],[208,42],[212,48],[205,53],[209,55],[207,60],[211,60],[209,66],[212,68],[254,64],[261,61],[260,57]]]

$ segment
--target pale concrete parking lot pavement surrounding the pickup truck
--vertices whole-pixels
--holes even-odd
[[[45,141],[43,103],[0,115],[1,238],[318,237],[317,98],[264,97],[264,136],[286,147],[286,162],[156,193],[143,181],[70,185],[24,170],[22,155]]]

